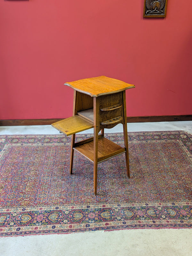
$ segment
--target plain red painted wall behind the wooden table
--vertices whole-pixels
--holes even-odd
[[[127,116],[192,114],[192,1],[165,19],[131,0],[0,1],[0,119],[66,118],[65,82],[106,75],[135,84]]]

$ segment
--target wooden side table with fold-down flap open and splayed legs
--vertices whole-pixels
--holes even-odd
[[[52,126],[67,136],[72,135],[70,174],[74,150],[93,163],[96,195],[98,163],[125,153],[127,175],[130,178],[125,90],[135,86],[106,76],[81,79],[65,85],[74,89],[73,116]],[[104,128],[113,128],[119,123],[123,124],[124,147],[104,137]],[[75,134],[90,128],[94,128],[94,136],[75,143]]]

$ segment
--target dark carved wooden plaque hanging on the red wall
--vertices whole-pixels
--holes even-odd
[[[144,1],[144,18],[164,18],[167,11],[167,0],[145,0]]]

